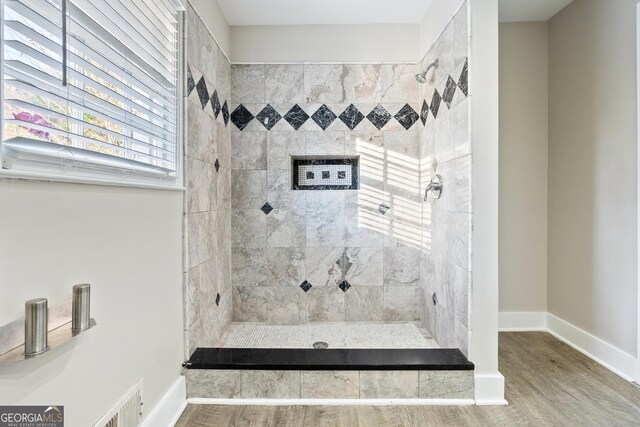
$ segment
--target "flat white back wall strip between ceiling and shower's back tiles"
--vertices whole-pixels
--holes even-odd
[[[417,24],[232,26],[231,61],[418,61]]]

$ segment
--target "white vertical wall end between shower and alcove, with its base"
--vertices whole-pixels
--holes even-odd
[[[478,404],[504,404],[498,372],[498,0],[471,0],[473,293],[469,359]]]

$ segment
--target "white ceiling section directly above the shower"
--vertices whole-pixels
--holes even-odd
[[[314,25],[417,24],[433,0],[217,1],[229,25]]]

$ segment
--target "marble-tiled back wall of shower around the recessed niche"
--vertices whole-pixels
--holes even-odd
[[[417,65],[231,67],[233,320],[419,320]],[[357,191],[291,190],[290,156],[359,156]]]

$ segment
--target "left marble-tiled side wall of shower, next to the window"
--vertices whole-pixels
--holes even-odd
[[[187,7],[185,325],[189,352],[213,346],[231,321],[229,62]]]

